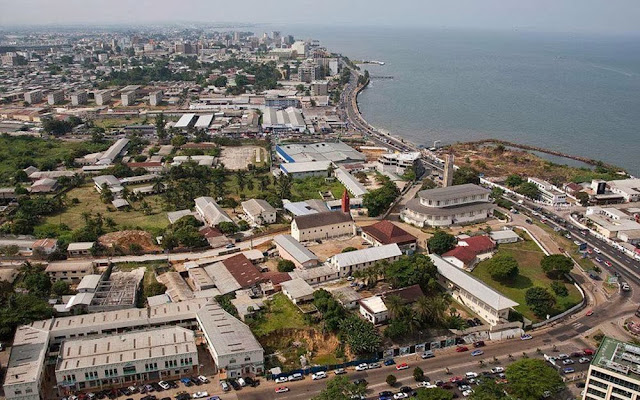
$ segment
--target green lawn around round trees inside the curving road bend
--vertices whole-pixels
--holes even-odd
[[[544,257],[544,253],[526,234],[525,238],[526,240],[524,241],[502,244],[498,248],[497,254],[510,255],[518,261],[520,273],[513,282],[502,283],[495,281],[489,274],[488,260],[478,264],[472,274],[511,300],[518,302],[520,305],[515,309],[526,318],[537,322],[540,318],[527,306],[525,292],[533,286],[542,286],[553,293],[551,290],[552,280],[545,275],[540,267],[540,261]],[[553,315],[573,307],[582,300],[580,292],[573,284],[565,283],[565,286],[569,290],[569,295],[567,297],[556,297],[557,303]]]

